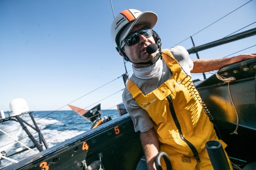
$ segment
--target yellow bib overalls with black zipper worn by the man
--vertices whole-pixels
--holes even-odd
[[[172,72],[170,79],[147,95],[131,79],[127,82],[127,89],[152,118],[159,150],[169,156],[173,169],[213,169],[204,149],[206,141],[218,140],[213,124],[204,113],[191,77],[181,71],[178,61],[168,49],[163,50],[162,56]],[[223,148],[227,146],[219,141]],[[165,169],[163,160],[161,165]]]

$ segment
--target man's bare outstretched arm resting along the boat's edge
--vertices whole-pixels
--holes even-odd
[[[256,58],[256,53],[254,54],[242,54],[233,57],[219,58],[219,59],[196,59],[193,60],[194,67],[191,73],[203,73],[212,70],[219,70],[221,67],[228,64],[232,64],[244,59]]]

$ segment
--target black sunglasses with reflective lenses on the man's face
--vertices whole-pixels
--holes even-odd
[[[132,32],[123,40],[121,44],[121,49],[126,44],[127,46],[132,46],[137,44],[140,41],[140,34],[143,34],[146,38],[151,37],[153,35],[152,29],[150,27],[143,27],[138,31]]]

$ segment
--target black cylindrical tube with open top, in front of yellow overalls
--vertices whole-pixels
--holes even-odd
[[[230,170],[228,159],[219,141],[209,140],[205,146],[214,170]]]

